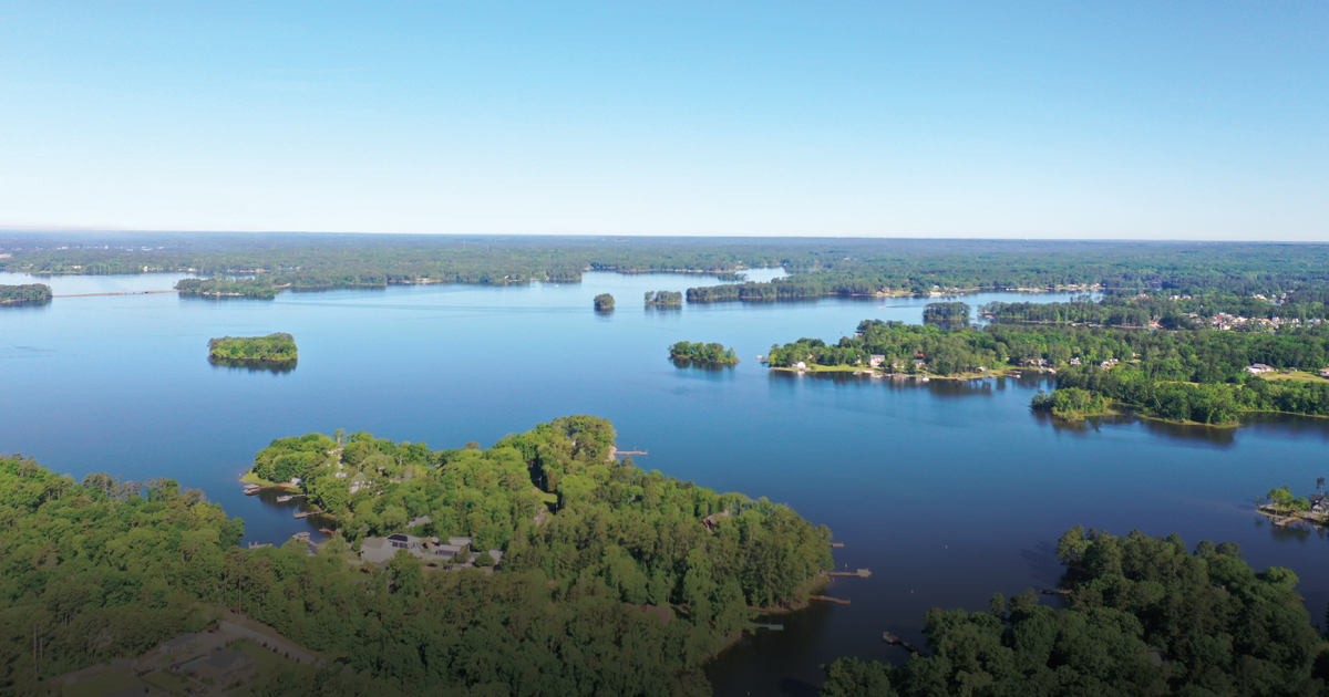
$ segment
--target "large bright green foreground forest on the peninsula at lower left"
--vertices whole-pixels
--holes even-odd
[[[170,481],[78,485],[0,457],[0,692],[45,694],[44,678],[227,608],[340,657],[291,665],[262,694],[710,694],[702,665],[750,604],[805,600],[831,563],[829,531],[617,462],[613,442],[591,417],[489,450],[363,433],[274,441],[255,469],[303,474],[339,514],[344,536],[314,556],[295,542],[237,547],[243,523]],[[433,522],[412,534],[473,535],[508,552],[502,571],[435,571],[404,551],[385,568],[344,562],[419,515]],[[670,621],[639,605],[671,608]]]

